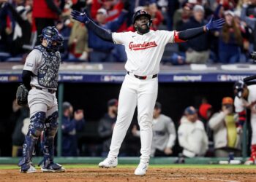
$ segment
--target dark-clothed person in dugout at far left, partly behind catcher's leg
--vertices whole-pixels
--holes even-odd
[[[18,106],[16,100],[12,102],[12,116],[10,123],[15,124],[12,132],[12,157],[22,156],[22,145],[25,139],[25,135],[22,132],[23,121],[29,117],[28,106]],[[29,127],[28,127],[29,129]]]

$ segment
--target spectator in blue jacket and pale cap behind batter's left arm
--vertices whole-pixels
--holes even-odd
[[[97,11],[96,22],[100,27],[116,31],[127,18],[127,10],[123,9],[121,15],[112,21],[106,22],[107,11],[106,9],[99,9]],[[126,53],[124,52],[123,45],[116,45],[108,41],[104,41],[95,35],[90,29],[89,31],[89,47],[93,49],[90,52],[91,62],[113,62],[115,60],[124,62],[127,60]],[[118,51],[117,51],[118,50]],[[115,53],[116,52],[116,53]],[[118,55],[116,55],[118,54]]]

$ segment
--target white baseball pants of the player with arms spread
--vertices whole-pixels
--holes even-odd
[[[137,79],[126,75],[118,99],[118,115],[110,145],[108,157],[117,157],[121,143],[127,133],[132,117],[138,106],[138,124],[140,125],[140,161],[148,162],[151,154],[152,120],[157,100],[158,79]]]

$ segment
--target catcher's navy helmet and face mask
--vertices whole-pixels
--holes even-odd
[[[42,39],[47,40],[47,49],[50,51],[57,51],[63,44],[63,37],[59,34],[59,31],[54,26],[45,27],[42,30],[42,34],[39,35]]]

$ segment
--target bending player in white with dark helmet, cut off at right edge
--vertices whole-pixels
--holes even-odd
[[[235,109],[239,116],[238,132],[241,132],[244,122],[246,122],[246,108],[251,110],[251,157],[245,162],[245,165],[253,165],[256,162],[256,85],[247,86],[242,80],[234,85]]]

